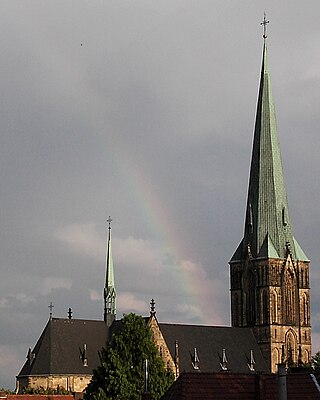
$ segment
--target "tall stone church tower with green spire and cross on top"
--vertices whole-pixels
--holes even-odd
[[[244,236],[230,264],[234,327],[252,327],[277,364],[310,361],[309,260],[292,234],[267,63],[266,24]]]

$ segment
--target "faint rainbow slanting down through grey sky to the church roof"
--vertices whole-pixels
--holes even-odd
[[[108,149],[110,146],[107,142],[111,139],[106,138],[108,123],[106,121],[105,103],[101,101],[91,87],[85,85],[83,92],[87,93],[88,96],[86,101],[83,102],[78,98],[78,106],[82,107],[84,115],[88,116],[88,125],[93,132],[96,132],[95,138],[101,141],[102,148]],[[90,110],[88,110],[88,104],[90,104]],[[113,135],[112,152],[108,151],[108,156],[112,158],[114,168],[125,182],[128,192],[132,195],[130,201],[134,201],[135,208],[140,209],[140,214],[144,219],[142,223],[148,226],[150,232],[154,233],[156,240],[159,240],[165,251],[170,253],[173,267],[178,272],[180,293],[185,298],[190,299],[190,305],[194,306],[196,310],[197,322],[223,324],[223,318],[217,316],[214,310],[215,296],[213,290],[210,289],[210,284],[206,282],[203,276],[202,267],[199,265],[199,268],[202,269],[202,273],[199,274],[194,273],[194,271],[192,273],[192,268],[188,268],[188,265],[194,266],[196,263],[188,261],[185,256],[187,251],[185,251],[183,243],[179,241],[179,234],[176,232],[174,223],[172,223],[173,218],[164,206],[166,202],[162,201],[159,194],[152,190],[152,185],[148,185],[146,174],[148,166],[135,162],[131,149],[127,147],[127,144],[121,142],[121,135]],[[111,210],[110,213],[112,213]]]

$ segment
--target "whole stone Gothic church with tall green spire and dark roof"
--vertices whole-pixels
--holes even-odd
[[[311,359],[309,260],[293,236],[283,175],[264,19],[262,66],[243,237],[229,261],[231,327],[161,323],[154,300],[146,323],[167,368],[181,372],[277,371]],[[53,318],[29,349],[17,376],[26,387],[81,393],[116,319],[116,286],[108,220],[103,319]],[[232,254],[232,249],[230,251]],[[227,288],[226,288],[227,291]]]

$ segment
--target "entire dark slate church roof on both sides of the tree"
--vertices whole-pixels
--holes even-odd
[[[250,371],[248,363],[251,351],[255,360],[255,371],[268,371],[251,328],[169,323],[161,323],[159,326],[172,356],[175,354],[175,342],[179,343],[180,372],[194,371],[192,362],[195,349],[198,370],[201,372],[221,371],[223,349],[227,368],[231,372]],[[52,318],[30,354],[31,362],[27,359],[18,377],[91,374],[100,365],[98,352],[112,334],[121,328],[121,320],[114,321],[108,328],[104,321]],[[81,359],[84,345],[88,366]]]

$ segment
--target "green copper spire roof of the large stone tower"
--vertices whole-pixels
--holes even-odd
[[[294,259],[307,260],[292,236],[264,39],[244,238],[231,262],[248,246],[254,258],[283,258],[287,242]]]

